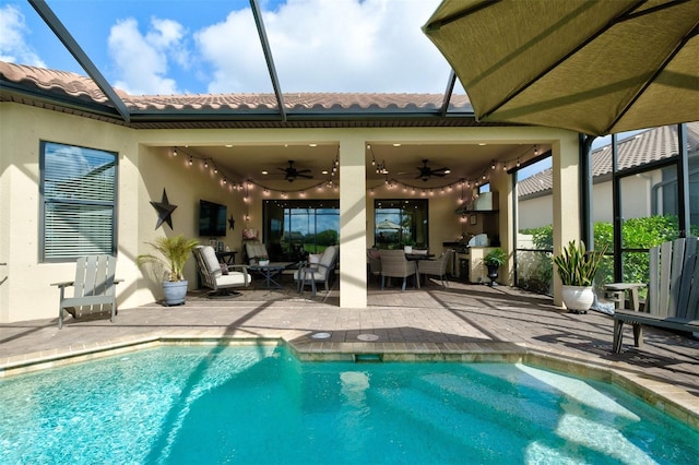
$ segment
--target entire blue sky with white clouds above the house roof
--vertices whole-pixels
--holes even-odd
[[[130,94],[273,92],[247,0],[47,3],[109,83]],[[259,4],[284,93],[447,87],[449,64],[420,29],[439,0]],[[25,1],[0,0],[0,60],[86,75]]]

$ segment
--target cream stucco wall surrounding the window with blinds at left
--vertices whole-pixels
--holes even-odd
[[[7,262],[1,271],[5,281],[0,285],[0,321],[57,317],[59,291],[50,284],[71,281],[75,265],[38,260],[39,141],[119,154],[119,248],[128,255],[138,250],[138,230],[132,227],[138,224],[138,211],[123,207],[138,203],[138,153],[131,131],[112,124],[13,104],[0,104],[0,262]],[[117,272],[127,283],[127,289],[119,289],[120,300],[130,303],[128,296],[138,271],[128,260],[121,260]]]

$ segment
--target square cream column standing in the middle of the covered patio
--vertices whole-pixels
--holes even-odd
[[[340,307],[367,307],[367,181],[364,139],[340,141]]]

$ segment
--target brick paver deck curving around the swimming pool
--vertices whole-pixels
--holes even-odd
[[[372,286],[368,308],[346,309],[339,307],[336,286],[315,299],[293,285],[226,299],[193,293],[180,307],[120,308],[115,323],[105,315],[69,317],[62,330],[57,318],[0,324],[0,377],[139,343],[279,339],[307,360],[379,355],[384,361],[538,363],[613,381],[699,429],[699,339],[691,335],[647,327],[643,347],[636,348],[627,327],[615,355],[609,315],[568,313],[518,288],[454,282],[442,288],[431,281],[406,291]]]

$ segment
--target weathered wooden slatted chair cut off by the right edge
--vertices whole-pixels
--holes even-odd
[[[614,312],[612,350],[621,350],[624,323],[633,324],[636,347],[643,344],[642,325],[699,332],[699,239],[689,237],[650,250],[650,283],[642,311]]]

